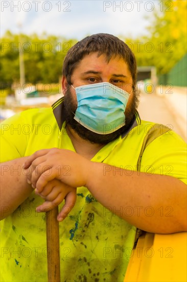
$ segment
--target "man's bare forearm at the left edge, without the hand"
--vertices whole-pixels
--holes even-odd
[[[22,169],[26,159],[27,157],[21,157],[1,163],[1,220],[11,214],[33,191]]]

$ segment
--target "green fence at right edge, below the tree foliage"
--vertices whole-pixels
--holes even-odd
[[[158,76],[158,83],[166,85],[171,83],[174,86],[187,86],[187,54],[171,69],[170,72]]]

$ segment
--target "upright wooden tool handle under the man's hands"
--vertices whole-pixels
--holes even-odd
[[[46,212],[46,244],[48,252],[48,281],[60,282],[60,246],[58,207]]]

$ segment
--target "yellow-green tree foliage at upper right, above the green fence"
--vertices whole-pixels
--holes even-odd
[[[157,73],[163,74],[184,56],[186,7],[185,0],[160,1],[149,18],[149,35],[137,39],[124,38],[133,50],[138,66],[156,66]]]

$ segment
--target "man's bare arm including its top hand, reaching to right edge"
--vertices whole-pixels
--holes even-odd
[[[86,186],[105,207],[130,224],[154,233],[186,230],[186,186],[172,176],[129,171],[90,160],[69,150],[45,149],[31,155],[25,168],[42,164],[28,176],[38,192],[52,179],[72,186]],[[56,169],[69,168],[58,173]],[[49,167],[51,168],[49,174]],[[106,169],[107,168],[107,169]],[[45,173],[45,171],[47,173]],[[116,211],[116,212],[115,212]]]

